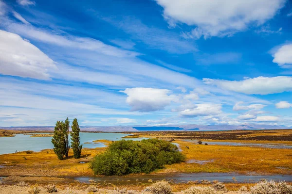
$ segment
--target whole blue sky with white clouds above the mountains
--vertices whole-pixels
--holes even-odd
[[[0,0],[0,126],[292,126],[290,0]]]

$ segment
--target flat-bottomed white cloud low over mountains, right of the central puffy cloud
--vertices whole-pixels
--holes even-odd
[[[185,109],[180,112],[181,116],[195,117],[195,116],[206,116],[206,115],[217,115],[222,113],[221,104],[196,104],[195,108]]]

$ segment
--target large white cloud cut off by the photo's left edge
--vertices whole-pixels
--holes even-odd
[[[49,80],[55,62],[19,35],[0,30],[0,73]]]

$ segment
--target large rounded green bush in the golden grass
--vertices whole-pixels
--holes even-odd
[[[95,156],[91,168],[96,175],[150,173],[163,168],[164,164],[184,160],[178,147],[164,140],[121,140],[113,142],[104,153]]]

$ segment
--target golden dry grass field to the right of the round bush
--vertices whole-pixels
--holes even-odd
[[[292,149],[247,146],[198,145],[179,143],[187,160],[212,161],[203,165],[180,163],[167,165],[162,172],[238,172],[257,174],[292,174]],[[188,146],[189,148],[186,148]],[[242,157],[244,156],[244,157]]]

